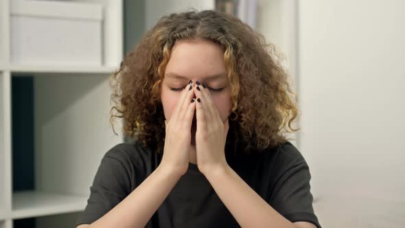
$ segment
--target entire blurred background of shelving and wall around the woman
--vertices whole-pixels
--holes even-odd
[[[405,227],[404,1],[0,0],[0,228],[73,227],[125,141],[109,76],[161,16],[192,8],[286,54],[321,225]]]

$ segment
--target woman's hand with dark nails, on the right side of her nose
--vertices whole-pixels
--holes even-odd
[[[211,170],[228,165],[225,159],[225,143],[229,120],[222,122],[209,90],[201,85],[198,88],[194,88],[197,98],[196,155],[198,169],[206,175]]]

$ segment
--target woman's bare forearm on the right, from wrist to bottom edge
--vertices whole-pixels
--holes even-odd
[[[241,227],[296,228],[270,207],[231,167],[223,166],[207,172],[205,176]]]

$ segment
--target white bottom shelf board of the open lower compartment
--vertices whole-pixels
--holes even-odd
[[[45,192],[17,192],[13,194],[12,219],[31,218],[69,212],[80,212],[86,207],[86,196]]]

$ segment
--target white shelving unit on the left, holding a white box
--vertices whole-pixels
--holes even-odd
[[[122,0],[0,0],[0,228],[12,228],[13,220],[22,218],[37,218],[37,227],[65,227],[68,218],[72,223],[71,212],[80,212],[86,205],[89,187],[102,156],[109,148],[124,141],[122,135],[115,135],[110,126],[111,91],[108,83],[123,56],[122,4]],[[94,14],[97,20],[89,19],[86,10],[97,12]],[[55,12],[63,13],[60,16]],[[19,25],[13,23],[13,16],[24,15],[29,15],[27,20],[35,19],[36,25],[45,22],[48,26],[59,26],[58,23],[67,26],[66,29],[77,32],[72,36],[80,36],[80,39],[71,39],[73,42],[91,43],[95,38],[100,45],[89,45],[89,48],[100,54],[100,60],[97,63],[95,59],[85,59],[79,64],[71,64],[75,59],[63,59],[71,58],[69,53],[86,54],[89,52],[83,49],[86,46],[78,45],[80,49],[72,49],[75,44],[60,43],[61,48],[69,47],[67,55],[63,56],[65,52],[54,53],[53,41],[38,41],[34,49],[19,50],[32,52],[30,57],[34,60],[19,61],[19,56],[14,53],[16,49],[12,47],[24,39],[16,38],[21,34],[12,27]],[[75,15],[84,17],[75,19]],[[86,26],[93,26],[92,29],[84,31],[84,27],[78,27],[80,20],[83,24],[90,21]],[[58,34],[59,30],[41,31],[45,32],[22,38],[30,42],[30,38],[41,36],[44,40],[54,37],[59,42],[69,41],[57,39],[58,35],[62,36]],[[89,31],[97,33],[87,34]],[[90,35],[92,39],[86,40]],[[44,58],[44,53],[49,58]],[[35,61],[36,54],[42,54],[40,64]],[[13,173],[12,145],[24,141],[12,139],[13,130],[19,130],[12,129],[15,114],[12,113],[12,82],[13,78],[22,76],[32,77],[34,85],[34,151],[30,152],[34,153],[31,162],[34,163],[35,188],[13,192],[12,180],[21,174]],[[116,124],[115,129],[121,128],[119,122]],[[62,217],[51,218],[56,215]],[[63,219],[64,215],[66,219]]]

